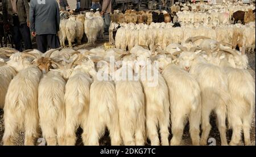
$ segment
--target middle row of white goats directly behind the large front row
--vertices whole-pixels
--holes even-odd
[[[168,50],[167,46],[199,46],[203,44],[204,48],[209,48],[218,43],[222,43],[230,48],[239,48],[240,51],[245,48],[255,48],[255,22],[249,24],[233,24],[205,26],[204,24],[184,24],[181,27],[173,27],[172,23],[151,23],[147,24],[119,24],[115,34],[115,46],[123,50],[130,50],[135,45],[146,45],[152,50],[154,45]],[[114,24],[113,24],[114,26]],[[209,40],[205,43],[196,41],[195,43],[185,43],[189,37],[204,36]],[[216,43],[216,41],[219,41]]]

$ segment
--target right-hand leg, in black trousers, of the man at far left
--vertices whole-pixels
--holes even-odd
[[[22,39],[25,44],[25,49],[32,49],[32,42],[31,42],[31,37],[30,37],[30,28],[28,28],[27,24],[22,24],[19,27],[19,31],[22,35]]]

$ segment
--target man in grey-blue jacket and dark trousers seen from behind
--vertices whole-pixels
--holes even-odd
[[[55,0],[31,0],[30,29],[36,37],[40,52],[46,52],[47,46],[52,49],[60,47],[57,37],[60,25],[60,12]]]

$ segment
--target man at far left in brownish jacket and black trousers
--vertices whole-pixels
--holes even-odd
[[[27,0],[3,0],[3,23],[4,28],[10,24],[15,49],[22,52],[22,39],[25,49],[32,49],[30,37],[30,6]]]

